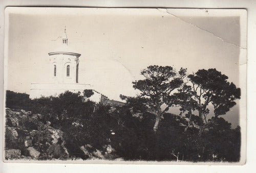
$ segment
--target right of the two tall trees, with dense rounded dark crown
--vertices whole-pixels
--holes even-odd
[[[195,74],[188,75],[191,82],[191,98],[196,103],[195,109],[199,117],[207,123],[208,106],[214,106],[215,116],[226,114],[231,107],[236,105],[234,100],[240,98],[241,91],[228,77],[215,68],[200,69]]]

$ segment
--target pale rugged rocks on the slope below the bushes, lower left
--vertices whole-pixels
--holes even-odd
[[[73,159],[66,147],[65,133],[51,127],[41,114],[6,108],[5,159]],[[80,146],[88,159],[110,158],[113,149],[91,150],[89,144]]]

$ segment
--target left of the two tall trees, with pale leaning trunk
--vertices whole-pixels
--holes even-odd
[[[146,111],[156,116],[153,130],[156,132],[163,113],[176,103],[172,94],[183,85],[186,69],[176,71],[171,66],[151,65],[141,71],[144,80],[133,82],[133,87],[141,91],[140,95],[129,100],[130,104],[136,100],[146,106]],[[121,98],[125,98],[121,96]],[[132,102],[131,102],[132,101]],[[165,105],[162,110],[161,106]],[[144,107],[145,108],[145,107]]]

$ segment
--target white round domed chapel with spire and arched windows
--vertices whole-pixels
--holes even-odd
[[[48,53],[51,77],[49,83],[32,83],[29,97],[40,98],[41,96],[58,96],[65,91],[83,92],[84,89],[93,89],[89,84],[78,83],[79,57],[68,44],[66,28],[61,38],[61,44],[54,51]],[[100,102],[108,98],[93,90],[94,94],[89,98],[91,101]]]

